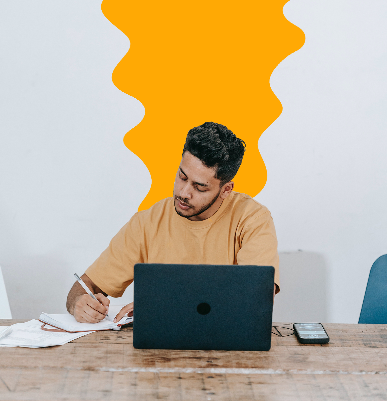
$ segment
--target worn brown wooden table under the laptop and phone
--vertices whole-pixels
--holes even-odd
[[[387,325],[324,326],[328,344],[299,344],[293,334],[272,338],[268,352],[138,350],[130,326],[62,346],[0,348],[0,399],[387,399]]]

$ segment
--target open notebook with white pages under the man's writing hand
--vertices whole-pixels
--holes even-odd
[[[47,323],[50,326],[54,326],[58,329],[62,329],[69,333],[75,333],[79,331],[98,331],[98,330],[120,330],[123,324],[133,322],[133,317],[124,316],[119,322],[114,323],[113,319],[117,316],[117,313],[121,310],[124,305],[112,305],[109,306],[109,316],[101,320],[98,323],[79,323],[75,320],[75,317],[71,314],[56,315],[42,313],[39,317],[40,322]],[[45,330],[43,328],[43,330]]]

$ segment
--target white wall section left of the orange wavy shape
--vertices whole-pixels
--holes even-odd
[[[14,318],[64,313],[73,274],[150,188],[123,144],[143,106],[111,81],[129,40],[100,4],[2,2],[1,266]]]

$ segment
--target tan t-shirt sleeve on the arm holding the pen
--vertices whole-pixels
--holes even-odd
[[[122,296],[133,281],[134,265],[143,263],[140,239],[136,213],[85,273],[106,294],[112,297]]]

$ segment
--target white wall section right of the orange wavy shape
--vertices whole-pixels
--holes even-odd
[[[259,141],[257,199],[282,251],[274,320],[355,323],[386,253],[386,2],[292,0],[284,14],[306,42],[272,74],[283,112]]]

